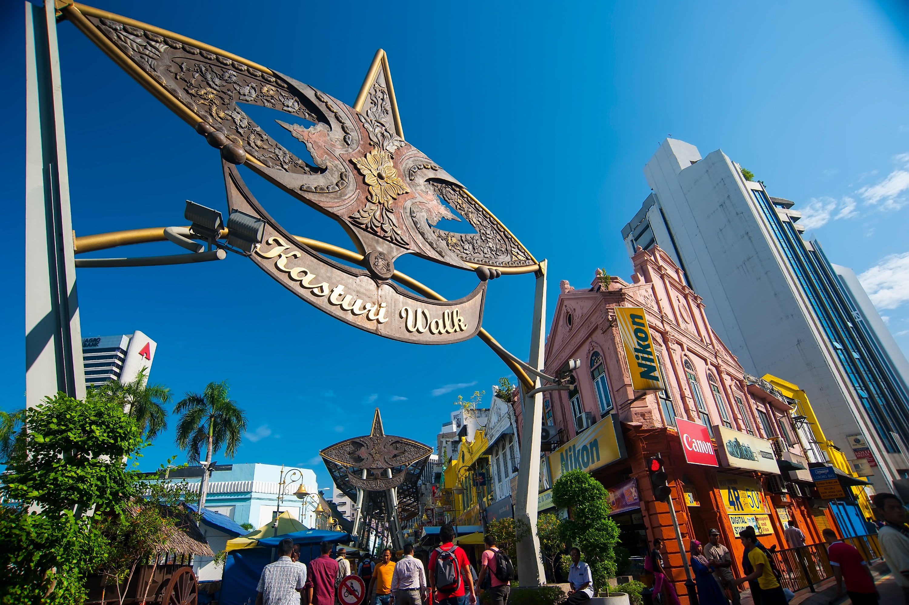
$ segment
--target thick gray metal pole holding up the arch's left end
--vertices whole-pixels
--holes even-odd
[[[85,398],[53,2],[25,3],[25,405]]]

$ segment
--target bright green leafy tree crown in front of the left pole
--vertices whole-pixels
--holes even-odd
[[[57,393],[27,409],[25,425],[6,467],[2,489],[10,499],[36,502],[48,515],[125,510],[135,477],[124,460],[138,456],[143,441],[122,408]]]

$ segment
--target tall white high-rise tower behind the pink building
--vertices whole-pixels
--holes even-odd
[[[653,192],[622,229],[629,256],[667,251],[745,370],[804,388],[848,458],[848,438],[864,436],[876,489],[909,477],[905,358],[852,271],[802,238],[794,203],[770,197],[723,151],[701,157],[674,139],[644,176]]]

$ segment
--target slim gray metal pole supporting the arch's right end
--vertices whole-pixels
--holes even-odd
[[[534,325],[531,328],[530,359],[528,363],[543,370],[546,329],[546,261],[540,261],[536,275]],[[539,388],[540,379],[536,379]],[[524,387],[522,386],[522,394]],[[546,581],[540,539],[536,535],[536,505],[539,496],[540,439],[543,431],[543,393],[524,398],[524,429],[521,439],[521,465],[517,473],[517,501],[514,519],[530,527],[530,536],[517,543],[517,575],[521,586],[542,586]]]

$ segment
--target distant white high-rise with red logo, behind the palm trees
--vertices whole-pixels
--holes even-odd
[[[135,380],[142,368],[147,379],[157,347],[154,340],[139,330],[132,334],[83,338],[85,386],[98,387],[108,380],[126,384]]]

